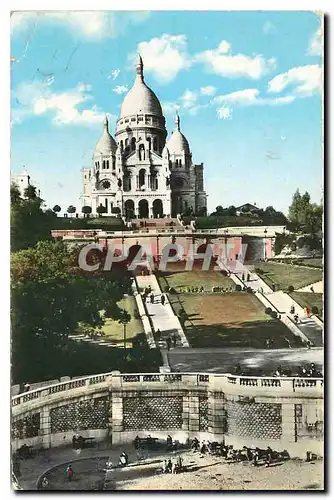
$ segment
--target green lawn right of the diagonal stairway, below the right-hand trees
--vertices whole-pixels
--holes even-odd
[[[257,264],[256,268],[263,269],[264,274],[260,274],[261,278],[271,287],[274,283],[278,290],[287,290],[290,285],[297,290],[322,279],[321,269],[303,268],[292,264],[266,262]]]

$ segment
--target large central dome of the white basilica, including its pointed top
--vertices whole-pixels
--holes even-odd
[[[120,118],[140,114],[163,116],[159,99],[144,82],[143,61],[140,56],[136,72],[135,83],[124,98]]]

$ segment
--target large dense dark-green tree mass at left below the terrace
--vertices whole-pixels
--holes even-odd
[[[118,320],[117,302],[131,293],[124,271],[85,272],[78,251],[62,241],[40,241],[12,254],[11,325],[14,383],[47,379],[68,352],[68,335],[83,322],[104,322],[101,311]],[[93,253],[91,259],[96,259]],[[66,365],[62,370],[66,372]],[[57,368],[58,370],[58,368]]]

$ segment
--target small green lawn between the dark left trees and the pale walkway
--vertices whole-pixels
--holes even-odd
[[[137,305],[134,297],[127,296],[124,297],[120,302],[118,302],[119,307],[125,309],[130,315],[131,320],[126,325],[126,338],[131,340],[138,333],[143,333],[144,328],[140,319],[135,318],[135,311],[137,311]],[[123,343],[123,325],[114,321],[110,318],[106,318],[105,324],[102,327],[103,340],[108,342]]]

